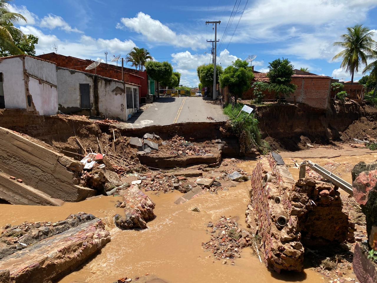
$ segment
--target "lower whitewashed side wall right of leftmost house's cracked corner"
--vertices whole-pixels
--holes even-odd
[[[55,86],[39,83],[29,77],[29,92],[39,115],[55,115],[58,112],[58,91]]]

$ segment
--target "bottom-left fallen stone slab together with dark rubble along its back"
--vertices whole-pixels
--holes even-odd
[[[56,281],[110,241],[103,222],[83,212],[55,223],[8,226],[0,235],[2,283],[29,283],[31,278],[33,283]]]

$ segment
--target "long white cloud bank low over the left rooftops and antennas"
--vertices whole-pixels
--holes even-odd
[[[58,53],[70,55],[83,59],[103,58],[104,51],[110,54],[128,53],[135,45],[132,40],[121,41],[118,38],[103,39],[92,38],[87,35],[81,35],[77,42],[60,40],[56,35],[44,34],[40,29],[33,26],[21,26],[21,31],[25,34],[34,34],[39,38],[35,46],[37,54],[55,52],[54,44],[58,46]],[[115,54],[115,55],[117,55]]]

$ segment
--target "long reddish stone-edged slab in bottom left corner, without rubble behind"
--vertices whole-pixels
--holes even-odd
[[[49,231],[66,225],[66,221],[59,222],[61,225],[49,227]],[[104,227],[100,219],[90,217],[53,237],[47,229],[32,230],[38,235],[46,232],[48,237],[0,260],[1,282],[27,283],[31,278],[33,283],[57,281],[110,241],[110,233]]]

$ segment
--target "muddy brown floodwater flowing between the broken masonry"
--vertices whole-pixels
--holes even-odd
[[[336,157],[329,160],[311,159],[324,165],[336,162],[353,165],[361,160],[374,161],[377,155]],[[295,159],[297,160],[297,159]],[[285,158],[292,165],[294,160]],[[239,166],[251,172],[256,161],[248,161]],[[348,166],[349,167],[349,166]],[[348,168],[345,166],[345,168]],[[342,171],[341,167],[338,167]],[[348,170],[348,169],[347,169]],[[343,170],[342,177],[350,181],[351,173]],[[290,168],[293,176],[298,177],[298,169]],[[297,171],[297,172],[296,172]],[[344,174],[344,175],[343,175]],[[153,274],[169,283],[191,282],[328,282],[329,278],[315,272],[313,268],[301,273],[269,272],[250,248],[241,252],[241,258],[222,265],[220,260],[209,257],[210,252],[202,249],[201,243],[210,239],[208,221],[214,223],[222,215],[237,219],[245,227],[245,208],[248,204],[250,182],[240,183],[227,192],[204,194],[182,205],[174,201],[181,196],[179,192],[154,195],[147,192],[156,203],[157,217],[148,223],[149,229],[143,231],[121,231],[114,227],[112,216],[119,212],[114,205],[120,197],[100,197],[80,203],[65,203],[61,207],[21,206],[0,204],[0,226],[7,223],[17,225],[23,221],[57,221],[76,212],[87,212],[103,219],[110,230],[111,241],[92,260],[80,269],[62,278],[59,283],[86,281],[88,283],[109,283],[122,277],[142,277]],[[198,206],[201,212],[192,212]],[[352,277],[352,274],[350,274]],[[352,278],[355,278],[354,275]]]

